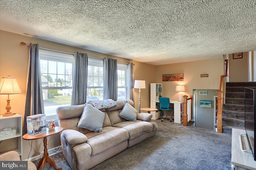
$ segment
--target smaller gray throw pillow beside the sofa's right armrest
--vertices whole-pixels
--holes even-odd
[[[120,112],[119,116],[128,121],[136,121],[137,113],[138,113],[138,111],[126,101],[124,103],[124,107],[123,107],[122,111]]]

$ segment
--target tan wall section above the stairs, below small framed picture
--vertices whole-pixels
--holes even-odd
[[[243,52],[242,57],[233,59],[233,54],[228,54],[229,82],[248,82],[248,52]]]

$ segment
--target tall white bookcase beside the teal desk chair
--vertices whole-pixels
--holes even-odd
[[[156,103],[159,103],[158,97],[162,97],[162,84],[150,83],[150,108],[156,108]],[[150,113],[153,115],[152,120],[156,120],[156,111]]]

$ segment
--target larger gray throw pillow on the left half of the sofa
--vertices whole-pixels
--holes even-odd
[[[86,104],[78,127],[87,128],[94,132],[101,132],[105,113]]]

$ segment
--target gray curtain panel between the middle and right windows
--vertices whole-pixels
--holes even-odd
[[[117,100],[117,59],[103,59],[103,99]]]

